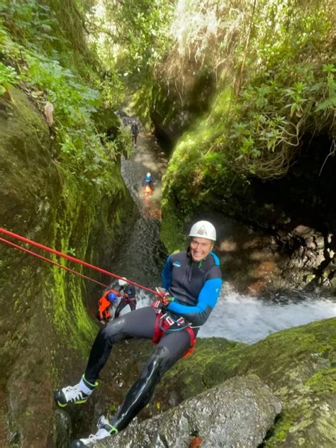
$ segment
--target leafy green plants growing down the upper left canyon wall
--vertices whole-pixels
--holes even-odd
[[[26,78],[47,93],[47,99],[55,105],[55,128],[59,142],[60,162],[83,182],[108,188],[111,174],[108,164],[116,162],[124,151],[123,135],[117,142],[106,142],[96,133],[91,114],[101,105],[99,91],[83,84],[71,70],[65,69],[57,60],[28,57]],[[131,147],[128,142],[128,149]]]

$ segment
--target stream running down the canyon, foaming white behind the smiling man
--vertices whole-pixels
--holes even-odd
[[[128,160],[123,158],[121,165],[123,179],[139,209],[140,218],[128,237],[127,245],[116,255],[112,270],[152,289],[161,284],[160,272],[167,257],[159,241],[162,197],[160,179],[166,167],[166,155],[157,145],[155,138],[145,132],[140,132],[132,157]],[[150,198],[145,198],[141,182],[148,171],[154,178],[155,191]],[[285,328],[336,316],[336,302],[332,296],[293,291],[263,297],[256,294],[255,284],[247,289],[253,293],[238,292],[236,286],[240,281],[240,271],[243,266],[246,269],[247,265],[248,268],[249,264],[242,254],[247,252],[247,247],[254,244],[256,235],[242,228],[242,225],[234,225],[228,218],[222,218],[220,225],[227,232],[227,235],[221,232],[222,237],[225,237],[220,244],[225,252],[221,260],[226,257],[229,268],[231,259],[235,258],[236,264],[234,269],[231,266],[228,274],[224,274],[218,303],[198,332],[198,337],[225,337],[229,340],[253,343]],[[230,254],[233,241],[241,242],[242,235],[245,241],[242,250]],[[259,240],[262,242],[262,237]],[[265,247],[258,250],[257,254],[261,252],[267,253]],[[271,271],[274,271],[274,262],[263,259],[254,269],[262,271],[258,278],[259,283],[265,282],[271,277]],[[116,286],[116,282],[111,285]],[[150,293],[142,290],[138,291],[137,297],[138,308],[149,305],[153,299]],[[128,312],[129,308],[126,307],[122,314]]]

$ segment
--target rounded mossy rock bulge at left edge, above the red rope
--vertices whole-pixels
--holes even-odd
[[[45,225],[60,179],[45,120],[20,90],[9,93],[0,96],[1,225],[31,233]]]

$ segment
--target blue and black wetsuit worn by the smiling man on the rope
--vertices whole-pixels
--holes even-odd
[[[167,309],[175,317],[182,316],[196,328],[206,322],[218,299],[221,274],[218,257],[212,252],[202,262],[193,262],[189,252],[179,252],[168,257],[162,271],[163,286],[174,297]],[[129,338],[152,339],[155,332],[156,310],[152,306],[138,308],[132,313],[121,315],[118,319],[104,325],[94,341],[86,366],[85,379],[94,384],[99,372],[106,364],[115,342]],[[150,355],[140,376],[125,396],[111,425],[123,430],[147,405],[161,376],[190,347],[189,332],[166,332],[162,335]]]

